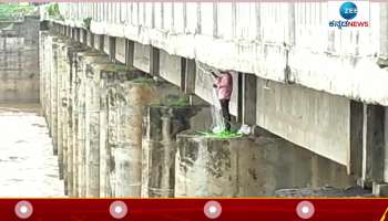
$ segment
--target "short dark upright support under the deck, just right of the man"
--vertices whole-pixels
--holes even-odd
[[[253,74],[242,73],[243,83],[242,83],[242,122],[247,125],[256,124],[256,104],[257,98],[257,83],[256,76]]]

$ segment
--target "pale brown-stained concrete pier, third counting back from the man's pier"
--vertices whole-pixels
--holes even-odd
[[[111,175],[114,197],[141,196],[143,108],[177,93],[178,90],[173,85],[153,80],[133,80],[118,85],[113,94],[120,117],[115,131],[118,141],[111,148],[114,160]]]

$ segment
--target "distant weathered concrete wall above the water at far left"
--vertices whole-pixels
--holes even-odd
[[[0,103],[39,103],[39,19],[0,22]]]

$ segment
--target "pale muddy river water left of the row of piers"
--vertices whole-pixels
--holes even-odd
[[[57,156],[35,106],[0,106],[0,197],[62,197]]]

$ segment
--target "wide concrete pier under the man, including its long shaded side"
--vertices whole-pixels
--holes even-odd
[[[175,197],[273,196],[294,187],[354,185],[346,167],[274,136],[177,136]]]

